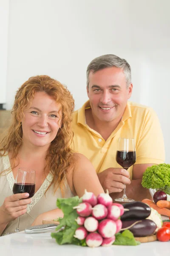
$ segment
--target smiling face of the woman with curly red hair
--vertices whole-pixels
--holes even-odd
[[[49,147],[62,122],[62,111],[55,99],[45,92],[36,92],[22,119],[23,143]]]

